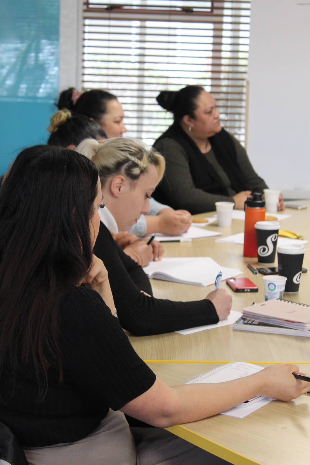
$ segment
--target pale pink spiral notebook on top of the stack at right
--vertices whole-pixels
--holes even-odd
[[[284,328],[310,330],[310,306],[290,300],[267,300],[242,309],[242,316]]]

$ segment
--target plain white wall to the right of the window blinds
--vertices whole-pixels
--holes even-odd
[[[310,2],[252,0],[248,79],[255,169],[270,187],[310,190]]]

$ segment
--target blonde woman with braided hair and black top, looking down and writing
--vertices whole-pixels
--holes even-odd
[[[106,208],[105,214],[99,210],[103,222],[94,253],[109,273],[123,328],[146,336],[218,323],[227,318],[231,296],[224,289],[193,302],[152,298],[152,287],[145,272],[125,255],[109,232],[127,230],[141,213],[148,212],[149,198],[164,174],[163,157],[152,147],[125,138],[85,140],[77,152],[91,159],[98,169]]]

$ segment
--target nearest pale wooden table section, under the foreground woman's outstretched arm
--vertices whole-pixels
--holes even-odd
[[[169,385],[181,384],[197,373],[218,366],[207,363],[148,365]],[[301,366],[310,373],[310,365]],[[215,415],[167,430],[234,465],[309,463],[310,396],[300,396],[290,403],[275,400],[243,419]]]

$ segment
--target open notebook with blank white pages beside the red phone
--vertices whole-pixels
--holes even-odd
[[[222,280],[232,278],[243,272],[237,268],[227,268],[219,265],[211,257],[178,257],[178,258],[163,258],[158,262],[150,262],[144,268],[148,276],[153,273],[161,273],[161,276],[155,279],[163,279],[165,281],[184,282],[196,286],[210,286],[215,283],[215,279],[220,270]],[[165,274],[165,276],[163,276]]]

